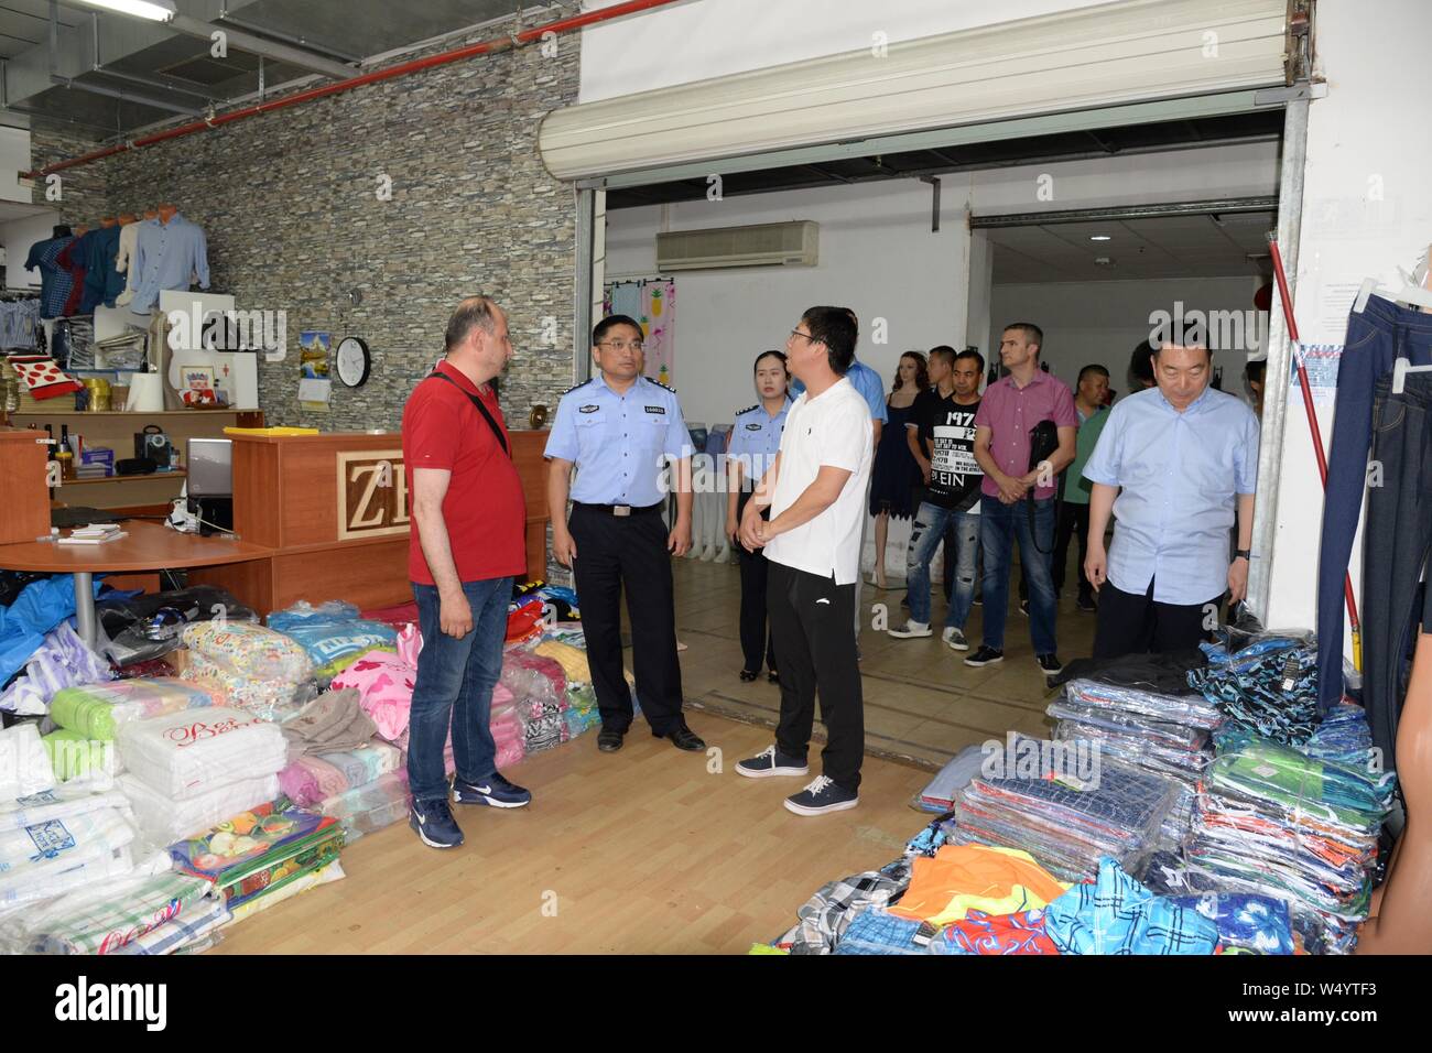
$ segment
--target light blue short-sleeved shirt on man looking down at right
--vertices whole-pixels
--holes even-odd
[[[1108,411],[1084,479],[1120,486],[1108,580],[1158,603],[1207,603],[1229,577],[1229,529],[1237,494],[1257,486],[1257,417],[1246,403],[1206,388],[1179,413],[1158,388]]]

